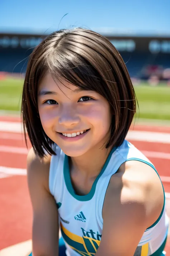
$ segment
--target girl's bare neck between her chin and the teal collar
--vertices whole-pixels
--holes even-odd
[[[71,171],[87,178],[95,178],[103,168],[111,149],[95,147],[82,156],[71,157]]]

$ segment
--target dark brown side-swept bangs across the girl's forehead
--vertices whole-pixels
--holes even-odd
[[[70,50],[63,53],[50,53],[46,59],[47,69],[54,80],[63,80],[83,90],[93,90],[103,95],[103,80],[99,72],[82,55]],[[66,85],[65,85],[66,86]]]

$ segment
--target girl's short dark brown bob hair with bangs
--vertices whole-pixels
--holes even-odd
[[[112,43],[84,28],[59,30],[47,36],[30,55],[22,94],[24,134],[40,157],[49,154],[52,140],[43,130],[38,112],[38,84],[49,71],[84,90],[108,100],[113,111],[111,136],[106,147],[120,146],[136,112],[136,96],[126,65]],[[25,136],[26,140],[26,136]]]

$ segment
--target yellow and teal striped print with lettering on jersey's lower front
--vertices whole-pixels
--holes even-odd
[[[81,228],[82,237],[75,235],[67,230],[62,223],[61,225],[61,234],[63,239],[69,246],[83,256],[94,256],[96,251],[99,248],[101,234],[94,232],[92,229],[86,231]]]

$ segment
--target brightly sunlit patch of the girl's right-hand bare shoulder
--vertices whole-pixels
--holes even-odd
[[[125,163],[123,181],[137,197],[146,204],[148,214],[161,213],[164,205],[164,190],[157,172],[150,165],[140,161]],[[158,213],[158,215],[160,215]],[[157,215],[157,214],[156,214]],[[158,216],[159,217],[159,216]]]

